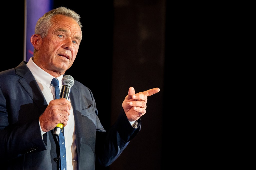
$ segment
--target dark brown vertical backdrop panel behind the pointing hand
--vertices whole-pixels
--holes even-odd
[[[135,93],[155,87],[161,91],[148,97],[141,131],[110,169],[164,169],[165,13],[165,0],[114,0],[112,123],[129,87],[134,87]]]

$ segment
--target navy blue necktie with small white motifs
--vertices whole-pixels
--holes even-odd
[[[60,98],[60,87],[59,80],[53,78],[51,84],[55,87],[55,99]],[[59,138],[59,146],[60,146],[60,170],[67,170],[67,161],[66,161],[66,147],[65,147],[65,138],[64,138],[64,127],[61,130]]]

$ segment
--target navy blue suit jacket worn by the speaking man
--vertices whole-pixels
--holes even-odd
[[[123,109],[107,131],[98,118],[93,94],[80,82],[71,88],[78,169],[109,166],[140,131],[133,128]],[[26,62],[0,72],[0,161],[6,169],[53,169],[58,163],[58,144],[52,130],[43,135],[38,118],[47,102]],[[141,120],[138,120],[139,125]]]

